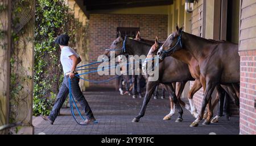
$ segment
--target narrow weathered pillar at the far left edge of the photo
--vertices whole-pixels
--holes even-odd
[[[11,0],[4,0],[0,5],[5,6],[0,12],[0,126],[3,126],[9,123]],[[0,131],[0,134],[6,133]]]

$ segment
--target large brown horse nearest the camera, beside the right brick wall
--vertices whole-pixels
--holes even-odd
[[[191,124],[191,127],[193,127],[198,126],[200,120],[203,119],[205,107],[208,102],[210,103],[212,92],[216,86],[220,84],[239,84],[240,57],[238,56],[237,44],[225,41],[210,41],[183,32],[182,29],[177,27],[177,31],[168,36],[159,49],[158,56],[159,59],[163,60],[164,57],[174,56],[178,50],[184,49],[195,57],[199,63],[200,82],[205,94],[200,114]],[[181,55],[187,56],[185,53]],[[180,60],[183,59],[180,58]],[[209,110],[212,112],[212,109]],[[209,123],[209,119],[207,120],[205,122]]]

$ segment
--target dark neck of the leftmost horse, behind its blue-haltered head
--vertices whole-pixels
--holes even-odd
[[[146,43],[141,43],[137,40],[126,40],[126,51],[130,55],[145,55],[147,56],[147,53],[150,51],[151,46]]]

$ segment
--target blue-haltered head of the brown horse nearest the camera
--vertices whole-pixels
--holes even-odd
[[[162,47],[160,47],[157,55],[160,60],[163,60],[164,57],[172,55],[175,51],[182,48],[181,35],[183,27],[179,28],[176,26],[176,31],[172,32],[170,36],[167,37],[164,41]]]

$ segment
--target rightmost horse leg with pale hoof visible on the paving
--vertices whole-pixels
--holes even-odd
[[[210,121],[210,123],[217,123],[218,122],[218,118],[220,118],[223,115],[223,107],[224,107],[224,96],[225,96],[225,91],[224,89],[218,85],[216,86],[217,89],[217,95],[214,101],[214,104],[212,105],[213,109],[214,107],[218,104],[218,114],[216,116],[214,116],[214,118]],[[215,105],[216,103],[216,105]]]

